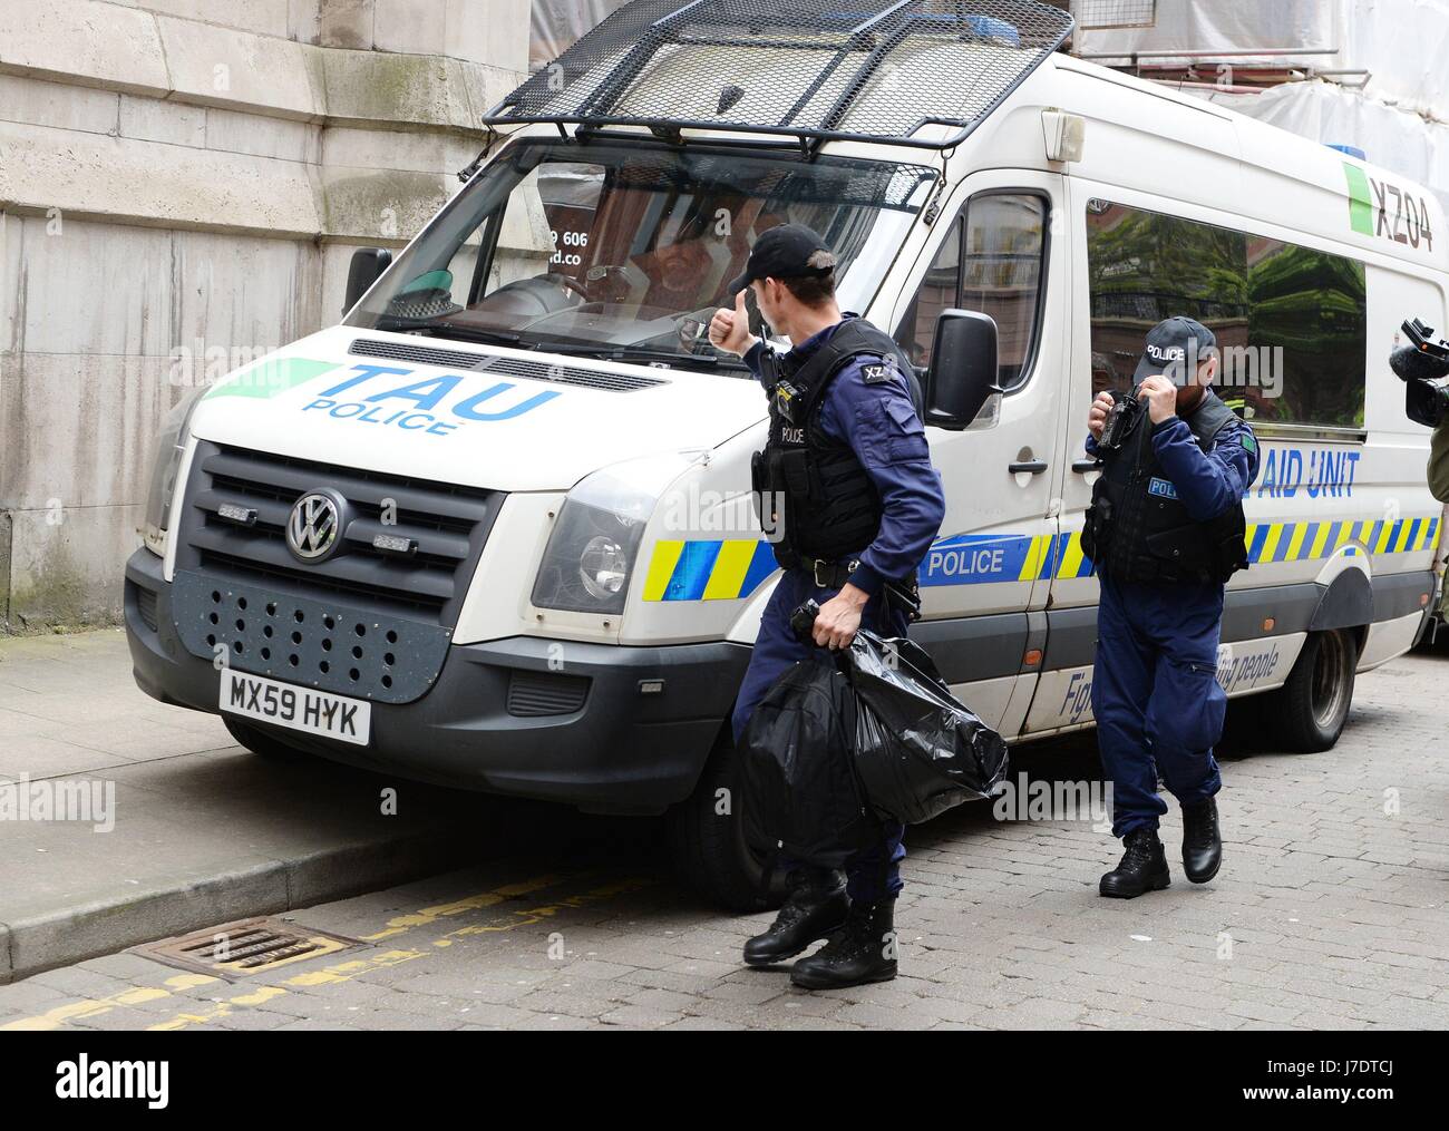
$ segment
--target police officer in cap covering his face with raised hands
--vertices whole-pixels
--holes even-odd
[[[1148,335],[1136,394],[1103,392],[1088,417],[1087,452],[1104,465],[1082,531],[1101,582],[1091,699],[1124,844],[1100,891],[1119,899],[1171,882],[1159,776],[1182,807],[1187,878],[1207,883],[1223,860],[1217,646],[1223,586],[1248,566],[1258,442],[1210,388],[1219,361],[1211,330],[1168,319]]]

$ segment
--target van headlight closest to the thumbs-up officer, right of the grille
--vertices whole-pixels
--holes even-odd
[[[581,479],[549,536],[533,604],[568,613],[623,613],[643,529],[664,491],[697,456],[617,463]]]

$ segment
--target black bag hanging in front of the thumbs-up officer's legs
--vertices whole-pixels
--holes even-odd
[[[745,836],[756,849],[840,867],[881,843],[851,752],[855,705],[849,676],[826,653],[765,692],[739,746]]]

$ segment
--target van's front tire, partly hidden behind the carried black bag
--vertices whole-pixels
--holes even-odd
[[[720,789],[729,791],[729,815],[716,812]],[[784,902],[785,878],[774,869],[765,886],[768,865],[745,843],[745,823],[738,807],[740,795],[739,756],[726,727],[694,792],[669,810],[665,823],[680,878],[711,904],[753,914]]]

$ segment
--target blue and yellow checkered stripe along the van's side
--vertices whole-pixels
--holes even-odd
[[[1335,553],[1411,553],[1437,545],[1439,517],[1339,523],[1259,523],[1248,527],[1248,560],[1308,562]],[[769,543],[755,539],[658,542],[645,578],[645,601],[733,601],[771,573]],[[920,584],[981,585],[1091,576],[1081,531],[1071,534],[956,534],[930,547]]]

